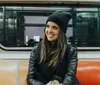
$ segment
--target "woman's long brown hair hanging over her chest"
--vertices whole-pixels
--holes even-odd
[[[41,46],[40,63],[42,61],[45,61],[46,59],[49,59],[49,66],[53,67],[56,66],[59,62],[59,59],[63,58],[66,52],[66,47],[67,47],[67,37],[65,33],[63,33],[61,30],[59,33],[59,37],[54,47],[52,48],[50,42],[47,40],[46,35],[44,35]]]

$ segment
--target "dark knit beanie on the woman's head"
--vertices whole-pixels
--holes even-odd
[[[61,28],[61,30],[66,33],[67,27],[68,27],[68,22],[71,19],[72,15],[69,12],[65,12],[65,11],[56,11],[53,14],[51,14],[47,21],[52,21],[54,23],[56,23],[57,25],[59,25],[59,27]]]

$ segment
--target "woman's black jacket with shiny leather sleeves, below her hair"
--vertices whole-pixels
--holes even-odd
[[[29,60],[29,70],[27,75],[28,85],[46,85],[53,79],[53,75],[62,78],[62,85],[73,85],[77,69],[77,48],[68,45],[64,59],[57,68],[48,67],[48,62],[39,63],[41,44],[32,50]]]

